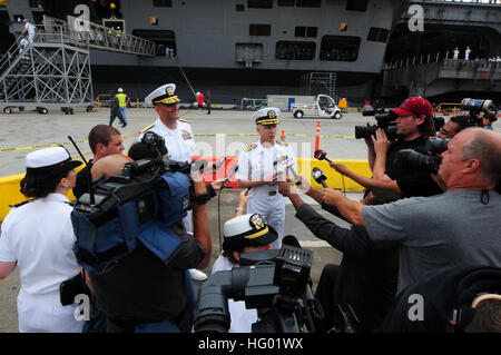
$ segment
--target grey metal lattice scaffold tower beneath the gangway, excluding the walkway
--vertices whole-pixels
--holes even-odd
[[[88,49],[65,41],[42,41],[42,34],[37,36],[13,59],[2,59],[0,107],[8,112],[10,107],[31,106],[37,107],[39,114],[47,114],[50,107],[69,112],[76,107],[92,107]],[[12,48],[4,57],[12,58],[16,50]]]

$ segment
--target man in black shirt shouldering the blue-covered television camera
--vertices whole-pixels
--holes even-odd
[[[117,172],[116,160],[109,156],[92,167],[106,175]],[[94,174],[94,176],[97,176]],[[195,195],[206,194],[204,180],[193,176]],[[156,233],[174,233],[180,245],[164,263],[137,239],[137,247],[120,259],[89,272],[98,306],[105,312],[106,331],[126,332],[189,332],[193,322],[194,289],[187,270],[205,268],[210,258],[210,234],[205,205],[191,204],[194,235],[186,233],[179,219],[169,227],[156,225]],[[156,223],[157,224],[157,223]],[[159,227],[159,228],[158,228]],[[159,236],[161,237],[161,236]]]

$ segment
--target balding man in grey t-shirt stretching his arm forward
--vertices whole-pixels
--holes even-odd
[[[483,128],[459,132],[442,154],[444,194],[363,206],[333,189],[323,201],[336,206],[371,240],[400,245],[399,292],[424,272],[460,263],[501,266],[501,135]]]

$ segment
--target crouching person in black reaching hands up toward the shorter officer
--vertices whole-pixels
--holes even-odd
[[[302,180],[302,190],[322,204],[322,193]],[[279,193],[291,199],[296,218],[320,239],[343,253],[340,266],[326,265],[316,288],[315,297],[321,302],[325,317],[318,332],[340,327],[337,305],[350,305],[360,321],[358,332],[373,332],[381,325],[396,293],[399,252],[392,243],[373,243],[364,227],[342,228],[322,217],[312,206],[304,204],[289,184],[279,183]],[[383,205],[400,199],[393,191],[366,190],[363,205]],[[333,206],[322,208],[343,218]]]

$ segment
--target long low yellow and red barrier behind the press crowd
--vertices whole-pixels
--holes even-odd
[[[212,167],[214,162],[218,161],[222,157],[203,157],[197,156],[194,157],[194,160],[198,159],[205,159],[208,162],[208,167]],[[226,157],[224,169],[223,166],[216,171],[216,174],[203,174],[204,180],[209,184],[214,179],[224,179],[226,178],[227,174],[232,170],[232,168],[238,162],[238,157]],[[350,170],[355,171],[360,175],[371,177],[372,172],[369,167],[369,164],[366,160],[348,160],[348,159],[336,159],[336,162],[344,164]],[[322,189],[322,186],[316,184],[312,179],[311,171],[313,168],[318,167],[321,168],[325,175],[327,176],[326,184],[328,187],[342,189],[346,191],[361,191],[363,190],[363,187],[355,181],[343,177],[337,171],[332,169],[328,166],[328,162],[324,160],[316,160],[316,159],[310,159],[310,158],[298,158],[297,165],[299,167],[299,175],[303,175],[305,178],[308,179],[312,187],[315,189]],[[80,170],[82,166],[78,167],[76,170]],[[22,203],[26,200],[26,197],[20,193],[19,190],[19,183],[24,177],[24,174],[18,174],[12,176],[6,176],[0,177],[0,220],[3,220],[6,218],[7,214],[10,210],[10,205],[16,205],[19,203]],[[230,188],[237,188],[237,181],[235,178],[235,175],[233,175],[229,179]],[[75,200],[75,196],[71,193],[71,190],[68,193],[68,198],[70,200]]]

